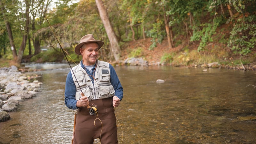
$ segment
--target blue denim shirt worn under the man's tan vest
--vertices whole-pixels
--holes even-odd
[[[84,68],[83,62],[80,62],[82,68]],[[92,68],[92,74],[93,70],[95,69],[95,65]],[[109,69],[110,69],[110,82],[113,85],[115,89],[115,95],[122,100],[123,99],[123,87],[119,81],[119,78],[116,74],[115,69],[111,64],[109,64]],[[88,75],[92,75],[90,71],[86,68],[85,69],[86,73]],[[94,76],[94,75],[93,75]],[[92,76],[90,76],[92,83],[94,83]],[[67,78],[66,78],[66,86],[65,86],[65,104],[68,108],[70,109],[77,109],[76,107],[76,85],[73,80],[71,71],[68,72]]]

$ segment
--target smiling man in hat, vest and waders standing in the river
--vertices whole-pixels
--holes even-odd
[[[97,138],[102,144],[118,144],[114,107],[118,107],[123,98],[123,87],[113,66],[97,59],[103,44],[92,34],[83,36],[75,47],[82,60],[67,75],[65,104],[77,109],[75,144],[93,144]],[[97,109],[96,115],[92,115],[88,107]]]

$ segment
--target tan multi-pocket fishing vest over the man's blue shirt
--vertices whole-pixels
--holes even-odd
[[[72,70],[74,71],[76,78]],[[115,95],[114,87],[110,83],[110,69],[108,62],[98,60],[94,72],[94,84],[92,84],[90,77],[80,64],[73,67],[72,70],[71,74],[76,84],[76,100],[79,100],[82,96],[80,87],[89,100],[105,99]]]

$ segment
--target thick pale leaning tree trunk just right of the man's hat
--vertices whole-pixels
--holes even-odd
[[[114,29],[112,28],[112,25],[108,19],[108,14],[107,14],[107,10],[105,9],[102,0],[95,0],[97,8],[99,10],[100,13],[100,18],[103,22],[103,25],[106,29],[107,35],[108,35],[108,39],[111,45],[111,52],[114,55],[114,58],[116,61],[119,61],[120,59],[120,47],[114,32]]]

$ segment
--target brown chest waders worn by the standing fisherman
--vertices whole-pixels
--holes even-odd
[[[91,115],[85,107],[77,109],[72,140],[74,144],[93,144],[94,139],[97,138],[100,138],[101,144],[118,144],[112,100],[113,97],[90,101],[90,107],[94,106],[98,109],[98,117]],[[95,120],[96,118],[100,120]]]

